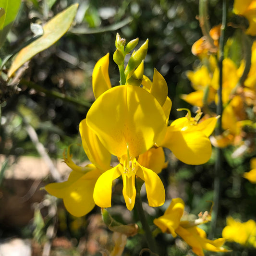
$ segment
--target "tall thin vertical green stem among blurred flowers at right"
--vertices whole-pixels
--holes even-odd
[[[219,38],[219,89],[218,89],[218,104],[217,104],[217,115],[222,115],[222,71],[223,71],[223,59],[224,59],[224,36],[227,23],[227,0],[222,2],[222,24],[220,27],[220,38]],[[221,128],[221,117],[217,121],[215,134],[220,135],[222,133]],[[219,211],[219,197],[221,190],[221,171],[222,171],[222,150],[216,148],[216,162],[215,162],[215,178],[214,178],[214,206],[212,210],[212,222],[211,222],[211,236],[214,237],[216,230],[217,217]]]

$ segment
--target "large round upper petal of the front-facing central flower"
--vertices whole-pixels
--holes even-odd
[[[119,85],[103,93],[87,113],[88,126],[111,154],[131,157],[162,141],[166,117],[156,98],[141,87]]]

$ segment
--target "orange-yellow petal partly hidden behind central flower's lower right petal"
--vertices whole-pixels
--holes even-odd
[[[159,173],[165,166],[165,156],[162,147],[150,148],[144,154],[139,155],[138,163],[147,169]]]

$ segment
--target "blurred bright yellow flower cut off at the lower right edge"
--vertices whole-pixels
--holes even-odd
[[[229,216],[222,236],[230,242],[256,247],[256,222],[253,219],[241,222],[239,219],[233,219]]]

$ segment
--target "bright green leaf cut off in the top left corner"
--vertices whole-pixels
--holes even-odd
[[[20,9],[21,0],[0,1],[0,47],[3,45],[8,32]]]

